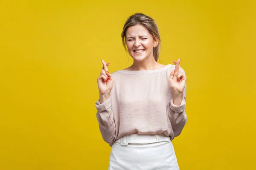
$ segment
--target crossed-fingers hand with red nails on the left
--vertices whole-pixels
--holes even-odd
[[[110,92],[114,85],[114,80],[108,72],[109,63],[105,63],[104,60],[102,60],[102,71],[100,72],[99,78],[97,79],[98,88],[99,88],[99,97],[100,97],[100,103],[106,102],[110,97]]]

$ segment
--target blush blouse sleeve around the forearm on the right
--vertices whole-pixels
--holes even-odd
[[[185,75],[185,71],[181,68],[181,71]],[[170,114],[169,118],[172,124],[172,129],[174,133],[174,137],[177,137],[180,135],[183,127],[186,125],[187,122],[187,116],[185,113],[185,107],[186,107],[186,84],[183,91],[183,99],[180,103],[180,105],[173,104],[173,99],[170,101]]]

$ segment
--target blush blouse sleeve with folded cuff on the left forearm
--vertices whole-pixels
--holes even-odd
[[[116,125],[111,106],[111,97],[104,103],[100,104],[99,100],[95,103],[97,113],[96,117],[99,122],[99,130],[105,142],[112,145],[115,141]]]

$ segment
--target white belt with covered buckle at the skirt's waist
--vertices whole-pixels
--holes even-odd
[[[149,144],[149,143],[160,143],[170,142],[170,137],[164,134],[128,134],[122,138],[116,140],[121,145],[128,144]]]

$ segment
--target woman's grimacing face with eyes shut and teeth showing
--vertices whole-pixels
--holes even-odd
[[[157,46],[158,42],[144,26],[130,26],[126,31],[125,39],[128,52],[134,60],[142,61],[150,57],[154,58],[153,48]]]

